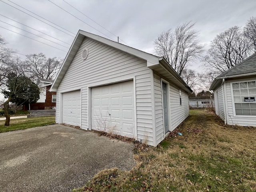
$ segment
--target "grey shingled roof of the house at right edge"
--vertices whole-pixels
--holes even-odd
[[[256,53],[217,76],[212,82],[210,90],[218,88],[222,83],[222,79],[242,78],[252,75],[256,75]]]

